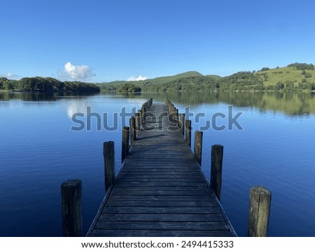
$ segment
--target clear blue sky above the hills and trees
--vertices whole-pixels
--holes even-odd
[[[0,75],[103,82],[315,62],[315,1],[2,0]]]

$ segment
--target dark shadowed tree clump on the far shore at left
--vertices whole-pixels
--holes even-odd
[[[0,90],[20,90],[28,92],[53,93],[53,92],[73,92],[73,93],[99,93],[99,86],[93,83],[83,83],[78,81],[59,81],[52,78],[42,78],[39,76],[23,78],[20,80],[10,80],[0,78]]]

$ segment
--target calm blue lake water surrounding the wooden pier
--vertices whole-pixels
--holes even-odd
[[[223,144],[221,202],[239,236],[246,236],[248,193],[255,185],[272,191],[269,236],[315,236],[315,93],[0,93],[0,236],[62,236],[60,185],[66,179],[83,181],[85,234],[104,196],[103,142],[115,142],[118,171],[121,127],[149,97],[168,97],[180,113],[190,107],[199,114],[190,119],[193,130],[204,129],[208,179],[211,145]],[[231,105],[230,115],[241,112],[241,128],[214,130],[216,113],[226,118],[215,126],[228,126]],[[119,114],[123,107],[126,118]],[[89,126],[87,112],[100,114],[101,123],[94,116],[90,128],[71,130],[79,126],[71,120],[75,113]]]

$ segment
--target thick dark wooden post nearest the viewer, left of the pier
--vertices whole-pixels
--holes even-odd
[[[61,185],[64,237],[82,236],[82,182],[69,179]]]

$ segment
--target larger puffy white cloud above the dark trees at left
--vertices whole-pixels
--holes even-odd
[[[91,67],[87,65],[72,65],[71,62],[67,62],[64,65],[62,74],[59,74],[62,79],[71,79],[77,81],[87,81],[95,76]]]

